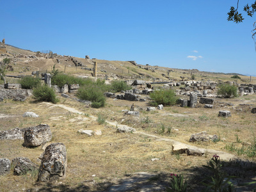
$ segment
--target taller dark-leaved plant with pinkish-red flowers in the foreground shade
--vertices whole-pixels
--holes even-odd
[[[203,165],[205,168],[211,171],[211,177],[207,178],[211,182],[202,182],[207,188],[205,191],[213,190],[215,192],[221,191],[234,191],[234,185],[229,180],[232,177],[228,177],[227,173],[221,170],[222,164],[220,162],[220,156],[214,155],[212,159],[207,163],[208,165]],[[205,181],[205,180],[204,180]]]

